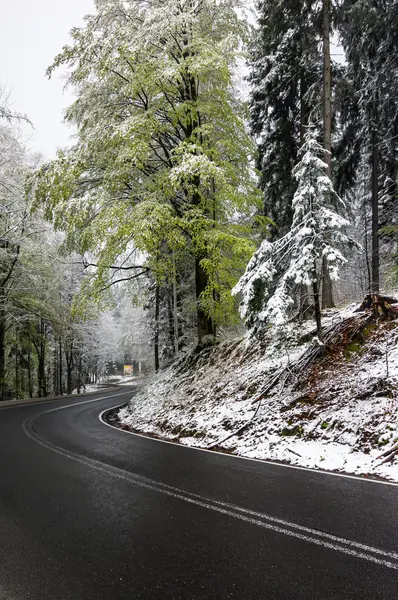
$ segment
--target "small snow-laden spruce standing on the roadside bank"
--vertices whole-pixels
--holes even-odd
[[[252,334],[260,333],[268,323],[280,326],[287,322],[294,289],[301,284],[311,288],[317,335],[323,341],[322,262],[325,258],[331,278],[337,279],[339,267],[345,263],[340,248],[350,242],[343,231],[348,221],[336,210],[344,204],[326,175],[324,154],[314,131],[308,129],[293,170],[298,185],[291,230],[272,243],[265,240],[261,244],[233,289],[234,294],[242,295],[241,314]]]

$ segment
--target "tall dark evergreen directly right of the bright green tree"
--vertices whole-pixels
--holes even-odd
[[[313,0],[261,0],[257,10],[250,55],[251,130],[259,150],[264,213],[276,224],[273,237],[278,237],[292,222],[292,170],[320,100],[321,13]]]

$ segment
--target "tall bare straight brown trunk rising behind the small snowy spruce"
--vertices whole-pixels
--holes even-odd
[[[323,0],[323,145],[326,174],[332,178],[332,67],[330,61],[330,0]],[[333,308],[333,288],[326,257],[322,261],[322,308]]]

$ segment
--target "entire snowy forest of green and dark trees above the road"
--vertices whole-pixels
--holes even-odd
[[[394,288],[398,4],[268,0],[251,22],[97,0],[48,69],[78,132],[48,162],[2,95],[3,399],[158,370],[241,317],[254,337],[315,318],[322,342],[321,308]]]

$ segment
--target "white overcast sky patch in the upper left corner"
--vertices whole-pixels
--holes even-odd
[[[45,157],[69,142],[62,123],[72,102],[61,72],[45,76],[73,26],[93,11],[93,0],[0,0],[0,85],[11,93],[14,110],[26,113],[34,130],[24,128],[27,145]]]

